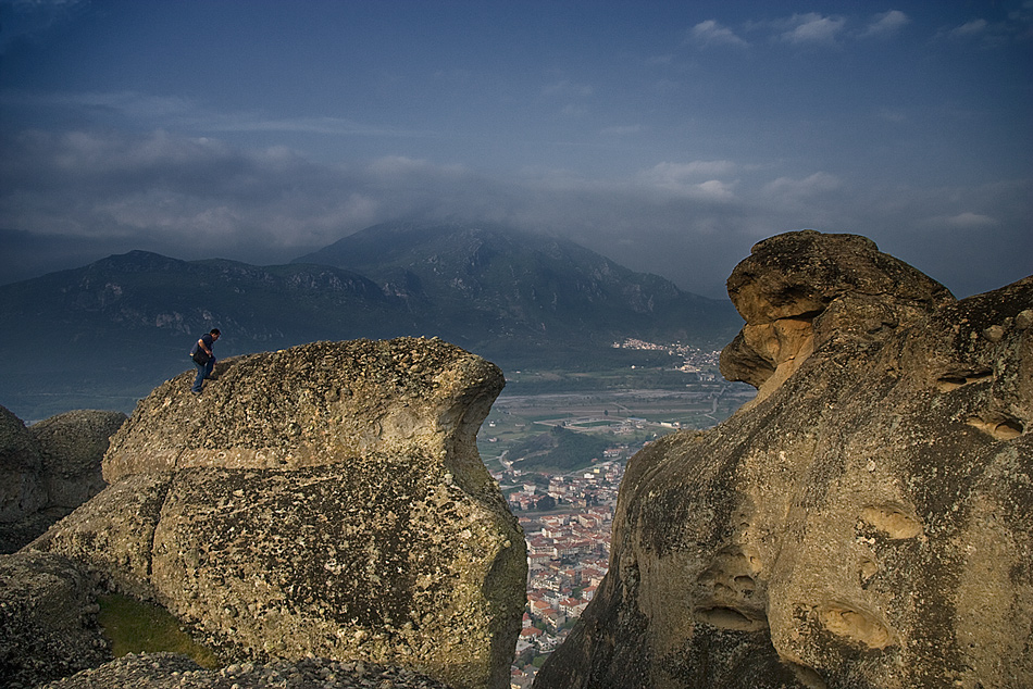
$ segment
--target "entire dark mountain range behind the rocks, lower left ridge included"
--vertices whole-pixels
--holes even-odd
[[[277,266],[132,251],[0,286],[0,404],[132,411],[212,327],[220,358],[411,335],[512,369],[584,366],[624,337],[718,347],[739,323],[730,303],[501,227],[381,225]]]

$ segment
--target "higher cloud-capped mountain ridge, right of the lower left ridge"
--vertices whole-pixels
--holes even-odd
[[[542,329],[568,323],[570,310],[581,326],[605,330],[614,309],[699,321],[718,303],[575,242],[490,224],[374,225],[296,261],[354,271],[411,300],[501,308]]]

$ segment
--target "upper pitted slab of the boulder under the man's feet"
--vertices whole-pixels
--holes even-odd
[[[315,342],[220,361],[199,398],[183,374],[158,387],[104,458],[104,478],[191,466],[297,468],[419,447],[477,471],[476,434],[505,381],[498,367],[436,339]]]

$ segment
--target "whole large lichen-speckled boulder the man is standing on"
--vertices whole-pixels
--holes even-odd
[[[151,598],[229,659],[393,664],[503,687],[524,541],[476,433],[499,369],[438,340],[318,342],[158,387],[111,486],[32,548]]]

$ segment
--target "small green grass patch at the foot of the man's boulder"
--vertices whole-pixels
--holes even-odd
[[[101,596],[98,602],[98,619],[115,657],[170,651],[188,655],[208,669],[222,666],[215,654],[183,631],[179,621],[164,607],[117,593]]]

